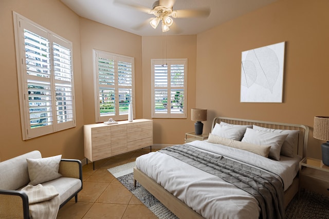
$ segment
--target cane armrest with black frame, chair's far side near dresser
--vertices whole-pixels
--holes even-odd
[[[58,172],[64,177],[79,178],[82,182],[82,165],[79,160],[62,159]]]

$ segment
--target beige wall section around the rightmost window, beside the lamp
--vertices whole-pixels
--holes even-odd
[[[143,117],[151,118],[151,59],[188,59],[188,118],[153,119],[154,144],[182,144],[185,132],[194,130],[190,111],[195,106],[196,35],[142,37]]]

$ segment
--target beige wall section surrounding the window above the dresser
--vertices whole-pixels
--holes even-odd
[[[135,118],[142,118],[142,49],[141,36],[80,18],[81,66],[84,123],[93,124],[95,97],[93,79],[93,49],[135,58]]]

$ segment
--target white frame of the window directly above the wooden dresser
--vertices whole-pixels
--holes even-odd
[[[115,93],[115,114],[112,115],[101,115],[100,113],[100,86],[99,86],[99,57],[103,58],[113,58],[114,61],[114,85],[112,85],[112,89]],[[131,64],[131,86],[122,86],[119,85],[118,79],[118,62],[126,62]],[[112,52],[102,51],[93,49],[93,63],[94,63],[94,98],[95,98],[95,121],[96,123],[107,122],[109,118],[113,118],[115,121],[122,121],[128,119],[128,111],[122,110],[120,111],[120,101],[116,101],[120,99],[119,90],[122,89],[131,89],[131,95],[129,99],[129,104],[132,104],[133,109],[133,117],[135,117],[135,58],[116,54]],[[121,78],[122,79],[122,78]]]

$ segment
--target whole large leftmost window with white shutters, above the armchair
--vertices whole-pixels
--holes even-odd
[[[75,127],[72,43],[13,16],[23,140]]]

